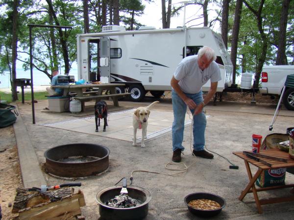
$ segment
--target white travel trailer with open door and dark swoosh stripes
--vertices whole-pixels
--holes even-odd
[[[186,56],[197,54],[203,45],[212,47],[221,69],[217,92],[232,83],[232,63],[221,36],[208,27],[125,31],[108,25],[102,32],[77,35],[78,78],[85,81],[123,83],[133,101],[146,92],[160,97],[171,90],[172,74]],[[208,91],[210,81],[202,90]]]

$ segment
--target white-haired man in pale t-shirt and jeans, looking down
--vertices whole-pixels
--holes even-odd
[[[184,135],[184,122],[187,106],[193,114],[193,154],[206,159],[212,159],[213,154],[204,150],[206,117],[204,106],[217,91],[221,72],[215,62],[216,54],[213,49],[203,46],[197,55],[185,57],[177,66],[171,80],[172,86],[172,161],[180,162]],[[203,99],[202,86],[210,80],[210,89]]]

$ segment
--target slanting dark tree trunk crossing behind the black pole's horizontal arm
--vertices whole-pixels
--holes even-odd
[[[49,14],[52,15],[55,24],[60,26],[59,21],[57,19],[57,16],[55,14],[55,11],[53,9],[53,5],[52,5],[52,1],[51,0],[46,0],[49,6]],[[63,55],[63,60],[64,60],[64,71],[65,73],[69,73],[70,72],[70,60],[69,60],[69,52],[67,49],[67,42],[65,40],[64,34],[61,30],[61,28],[58,28],[58,34],[59,34],[59,38],[60,38],[60,43],[61,43],[61,48],[62,48],[62,55]]]

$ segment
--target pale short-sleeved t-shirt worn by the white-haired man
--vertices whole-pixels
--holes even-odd
[[[173,76],[179,81],[178,85],[185,93],[195,94],[210,79],[215,83],[221,80],[221,71],[213,61],[203,71],[198,66],[198,55],[185,57],[175,69]]]

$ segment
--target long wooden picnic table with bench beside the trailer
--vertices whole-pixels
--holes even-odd
[[[116,93],[116,87],[124,87],[125,84],[115,84],[115,83],[101,83],[101,84],[81,84],[81,85],[66,85],[66,86],[52,86],[52,88],[62,88],[63,96],[68,96],[69,92],[76,93],[73,98],[81,101],[82,111],[85,108],[85,102],[95,100],[100,101],[103,98],[111,98],[113,100],[114,106],[119,106],[119,97],[126,96],[130,93]],[[97,89],[94,90],[94,94],[87,94],[84,92],[87,88]],[[103,91],[109,91],[109,94],[103,94]],[[93,93],[93,92],[90,92]]]

